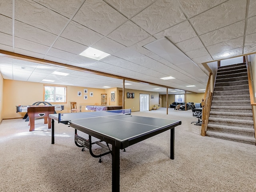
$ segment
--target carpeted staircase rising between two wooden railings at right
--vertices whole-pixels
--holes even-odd
[[[246,64],[218,68],[206,136],[256,144]]]

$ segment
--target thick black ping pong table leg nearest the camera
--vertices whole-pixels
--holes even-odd
[[[112,144],[112,192],[120,192],[120,149]]]

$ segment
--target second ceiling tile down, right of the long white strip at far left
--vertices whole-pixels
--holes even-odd
[[[15,21],[15,36],[46,46],[52,46],[56,35],[25,23]]]

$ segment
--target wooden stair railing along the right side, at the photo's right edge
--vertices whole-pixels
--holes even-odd
[[[248,62],[248,56],[244,56],[246,67],[247,67],[247,75],[248,75],[248,85],[249,85],[249,92],[250,92],[250,102],[252,105],[252,118],[253,118],[253,127],[254,127],[254,137],[256,138],[256,126],[255,126],[255,115],[254,115],[254,107],[256,106],[256,103],[254,102],[254,89],[252,86],[252,78],[251,78],[251,69]]]

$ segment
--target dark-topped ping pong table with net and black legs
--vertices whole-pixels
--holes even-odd
[[[52,144],[54,144],[54,120],[75,129],[75,143],[86,147],[94,157],[112,155],[112,192],[120,191],[120,150],[152,136],[170,130],[170,159],[174,159],[174,128],[180,120],[133,116],[131,109],[97,112],[50,114],[52,119]],[[89,140],[77,135],[77,130],[89,135]],[[100,141],[92,142],[91,137]],[[105,145],[106,143],[106,145]],[[92,145],[98,144],[109,151],[95,155]],[[111,145],[111,146],[110,146]]]

